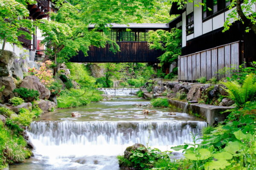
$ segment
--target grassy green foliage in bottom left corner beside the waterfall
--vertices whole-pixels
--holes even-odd
[[[5,168],[7,164],[21,163],[31,155],[32,152],[26,148],[23,136],[14,133],[0,121],[0,169]]]

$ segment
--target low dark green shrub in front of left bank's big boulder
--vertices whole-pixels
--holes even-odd
[[[39,93],[34,89],[27,89],[27,88],[16,88],[13,92],[24,99],[26,102],[32,102],[35,99],[38,99]]]

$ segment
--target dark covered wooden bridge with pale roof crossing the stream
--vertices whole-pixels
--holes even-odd
[[[129,23],[129,26],[124,24],[112,25],[108,38],[117,42],[120,47],[118,53],[113,54],[109,51],[109,45],[106,48],[91,46],[87,57],[80,51],[77,56],[70,59],[70,62],[159,62],[157,57],[162,55],[163,51],[148,48],[146,33],[149,30],[169,30],[169,24]],[[94,25],[90,25],[89,28],[94,28]],[[130,31],[126,31],[126,28],[129,28]]]

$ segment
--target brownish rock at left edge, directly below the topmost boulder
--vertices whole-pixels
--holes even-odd
[[[16,85],[12,79],[12,77],[0,77],[0,87],[5,86],[3,92],[0,92],[0,99],[4,102],[8,102],[9,99],[14,97],[14,93],[12,92]]]

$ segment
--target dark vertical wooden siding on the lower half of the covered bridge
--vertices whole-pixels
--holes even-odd
[[[160,50],[149,50],[147,42],[117,42],[120,52],[113,54],[106,48],[90,47],[88,56],[79,54],[70,59],[70,62],[159,62],[157,57],[163,54]]]

